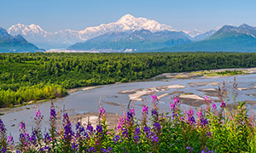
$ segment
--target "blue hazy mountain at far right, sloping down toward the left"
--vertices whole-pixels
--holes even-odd
[[[223,26],[206,40],[158,50],[253,52],[256,51],[256,27],[246,24],[238,27]]]

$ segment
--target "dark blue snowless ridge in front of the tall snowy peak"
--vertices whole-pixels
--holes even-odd
[[[118,50],[135,51],[171,47],[192,42],[191,37],[182,31],[108,32],[85,42],[78,42],[70,50]]]

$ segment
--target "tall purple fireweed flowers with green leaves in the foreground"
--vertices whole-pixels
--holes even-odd
[[[129,109],[114,129],[108,129],[108,116],[100,105],[96,128],[90,123],[83,127],[78,122],[75,130],[67,113],[57,128],[52,105],[49,132],[41,131],[43,116],[37,109],[32,133],[27,132],[25,122],[20,122],[18,146],[12,136],[7,136],[0,120],[0,149],[2,152],[256,152],[255,122],[253,116],[247,116],[245,102],[239,102],[236,111],[227,111],[224,101],[219,108],[208,97],[205,102],[207,107],[198,109],[195,115],[192,109],[182,111],[174,97],[170,104],[172,113],[160,113],[158,99],[153,95],[150,118],[147,105],[143,105],[141,120]]]

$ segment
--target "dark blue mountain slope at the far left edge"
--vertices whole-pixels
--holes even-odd
[[[0,27],[0,52],[34,52],[40,51],[39,48],[24,37],[17,35],[15,37]],[[41,50],[42,51],[42,50]]]

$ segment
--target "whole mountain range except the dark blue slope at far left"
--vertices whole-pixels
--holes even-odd
[[[118,21],[82,31],[49,32],[40,26],[17,24],[10,35],[25,37],[40,48],[111,51],[256,51],[256,27],[223,26],[212,31],[177,31],[155,20],[126,14]],[[23,38],[24,39],[24,38]],[[25,40],[24,39],[24,40]],[[26,41],[25,40],[25,41]],[[11,48],[12,49],[12,48]]]

